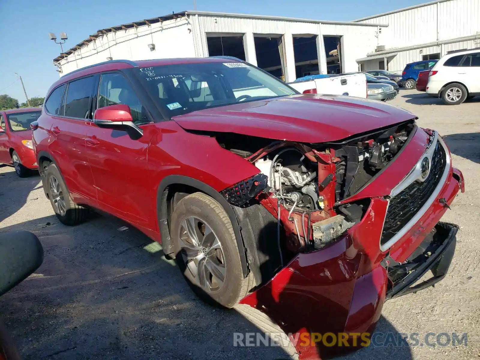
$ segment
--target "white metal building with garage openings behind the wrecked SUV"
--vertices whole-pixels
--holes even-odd
[[[285,80],[385,69],[480,47],[480,0],[437,0],[355,20],[185,11],[98,30],[54,59],[60,75],[111,59],[234,56]]]

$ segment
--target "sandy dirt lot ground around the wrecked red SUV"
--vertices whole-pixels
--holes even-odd
[[[466,178],[444,221],[458,224],[449,274],[434,288],[388,301],[383,332],[468,333],[468,346],[362,349],[344,359],[473,359],[480,356],[480,98],[445,106],[417,91],[393,105],[438,130]],[[0,168],[0,232],[30,230],[43,265],[0,298],[0,318],[24,359],[289,359],[291,347],[233,347],[234,332],[274,331],[246,309],[222,311],[192,294],[172,262],[135,229],[95,216],[67,228],[53,215],[38,176]],[[259,330],[260,329],[260,330]]]

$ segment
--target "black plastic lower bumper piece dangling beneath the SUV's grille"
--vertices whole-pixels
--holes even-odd
[[[452,262],[457,231],[457,225],[439,222],[404,264],[390,267],[388,275],[393,287],[387,290],[386,299],[415,293],[442,280]],[[413,285],[428,270],[432,271],[433,277]]]

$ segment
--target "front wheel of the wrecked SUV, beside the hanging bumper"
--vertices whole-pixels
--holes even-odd
[[[213,198],[195,192],[181,199],[170,234],[180,272],[201,299],[231,308],[247,294],[253,276],[243,278],[232,224]]]

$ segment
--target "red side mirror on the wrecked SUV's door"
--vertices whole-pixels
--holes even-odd
[[[144,131],[133,123],[128,105],[118,104],[98,108],[95,111],[93,122],[99,128],[125,131],[132,140],[138,140],[144,134]]]

